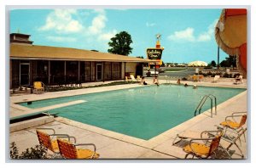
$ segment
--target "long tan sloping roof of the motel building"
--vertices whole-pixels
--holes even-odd
[[[140,59],[131,56],[101,53],[77,48],[60,48],[38,45],[10,44],[10,59],[41,59],[41,60],[79,60],[106,62],[157,62],[156,60]]]

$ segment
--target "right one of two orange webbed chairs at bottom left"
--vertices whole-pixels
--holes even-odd
[[[65,159],[97,159],[100,154],[96,153],[96,146],[93,143],[70,143],[66,139],[57,137],[60,154]],[[77,148],[78,146],[92,146],[94,149]]]

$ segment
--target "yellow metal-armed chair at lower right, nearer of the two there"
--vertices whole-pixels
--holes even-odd
[[[220,138],[222,137],[223,132],[218,132],[215,135],[213,134],[213,137],[212,134],[208,135],[210,135],[208,138],[190,139],[189,144],[183,147],[183,151],[187,153],[185,155],[185,159],[189,156],[189,154],[192,155],[192,158],[197,157],[201,159],[207,159],[212,157],[212,154],[216,152],[219,146]]]

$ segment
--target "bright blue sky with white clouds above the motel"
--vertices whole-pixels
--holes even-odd
[[[214,26],[221,8],[131,8],[131,9],[13,9],[10,33],[31,35],[34,45],[98,50],[108,53],[110,38],[120,31],[131,35],[132,53],[143,56],[154,48],[156,35],[165,48],[165,63],[195,60],[217,63],[218,45]],[[220,62],[228,55],[220,49]]]

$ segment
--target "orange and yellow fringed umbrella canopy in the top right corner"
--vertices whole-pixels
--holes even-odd
[[[219,48],[236,56],[238,70],[247,74],[247,9],[225,8],[215,28]]]

